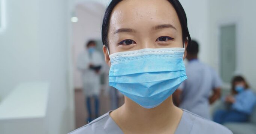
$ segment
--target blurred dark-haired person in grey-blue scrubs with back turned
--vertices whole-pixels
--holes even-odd
[[[175,105],[210,119],[210,104],[220,98],[222,80],[216,71],[198,59],[199,45],[191,41],[187,47],[185,80],[174,93]]]

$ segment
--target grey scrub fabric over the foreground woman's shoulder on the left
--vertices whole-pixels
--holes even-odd
[[[105,134],[105,130],[103,129],[103,124],[109,119],[109,112],[102,115],[101,117],[94,119],[87,125],[80,127],[69,134]]]

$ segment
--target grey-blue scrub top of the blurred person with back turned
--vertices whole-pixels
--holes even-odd
[[[222,80],[213,68],[199,60],[189,61],[186,74],[188,79],[178,88],[182,91],[180,108],[210,119],[209,97]]]

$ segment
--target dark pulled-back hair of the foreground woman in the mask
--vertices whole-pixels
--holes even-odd
[[[108,47],[108,31],[109,31],[109,21],[110,21],[111,13],[114,7],[121,1],[122,0],[112,0],[109,6],[107,7],[104,18],[103,18],[101,35],[102,35],[102,43],[106,45],[106,47]],[[172,6],[176,10],[177,15],[179,17],[181,28],[182,28],[183,43],[187,39],[188,46],[189,46],[191,38],[189,34],[189,29],[187,28],[186,13],[183,7],[181,6],[181,3],[178,0],[168,0],[168,1],[172,4]]]

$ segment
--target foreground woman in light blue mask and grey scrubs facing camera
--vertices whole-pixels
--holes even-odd
[[[178,0],[112,0],[102,23],[109,85],[124,104],[70,134],[232,134],[172,101],[190,45]]]

